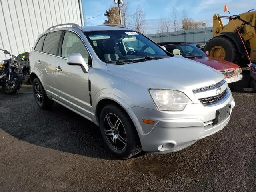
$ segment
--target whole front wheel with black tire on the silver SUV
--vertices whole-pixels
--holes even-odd
[[[128,159],[142,151],[132,120],[116,105],[110,104],[102,109],[100,132],[107,148],[118,158]]]

